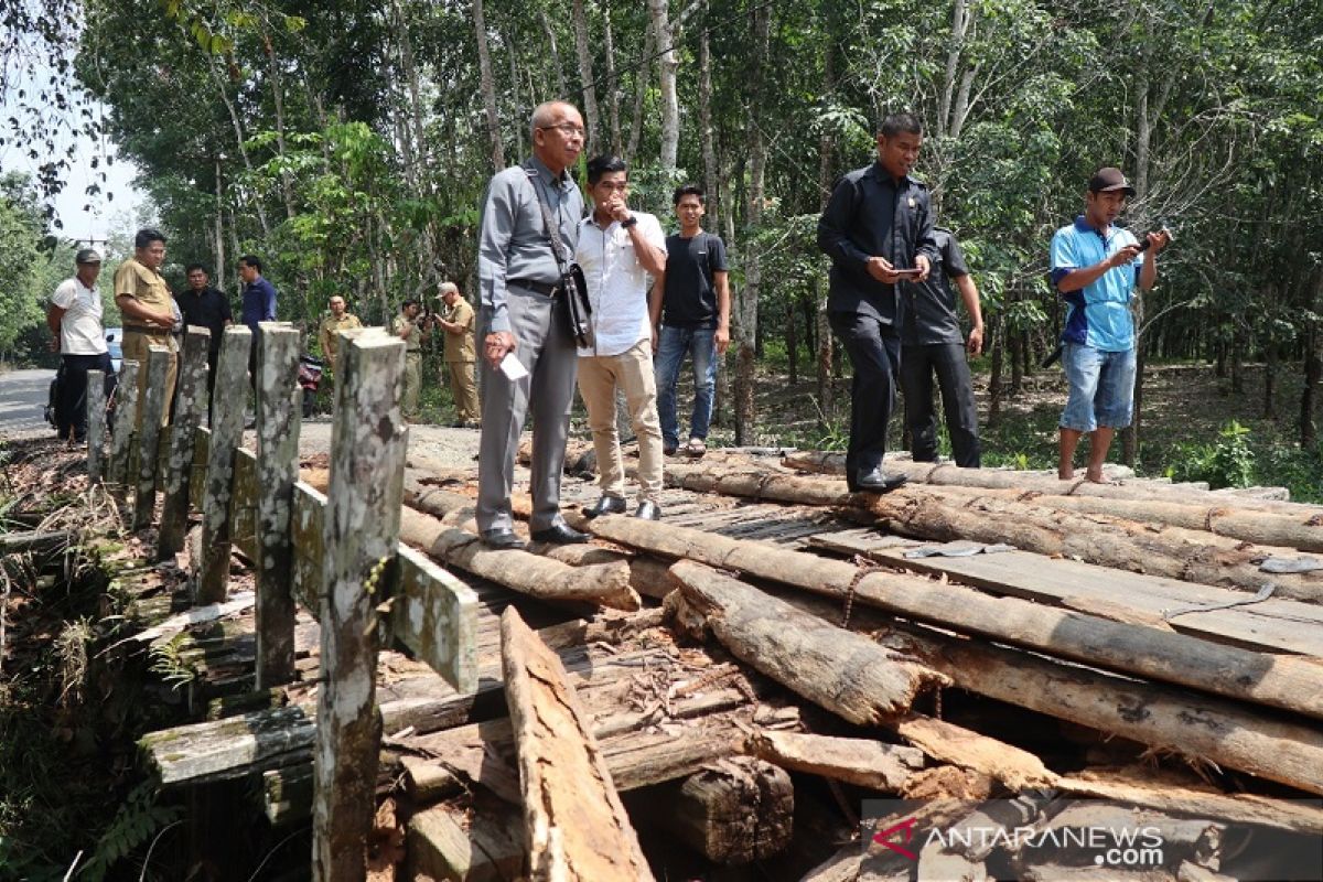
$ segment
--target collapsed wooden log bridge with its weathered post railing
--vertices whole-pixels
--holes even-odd
[[[288,357],[262,337],[263,360]],[[1168,875],[1144,878],[1234,878],[1265,837],[1319,849],[1323,508],[923,464],[852,496],[832,455],[714,451],[668,468],[660,524],[587,521],[597,492],[568,480],[591,545],[488,551],[476,475],[406,455],[397,348],[352,337],[329,469],[296,476],[274,382],[257,455],[218,398],[212,431],[185,417],[168,436],[164,479],[136,456],[140,524],[157,480],[179,510],[193,463],[189,615],[237,616],[197,640],[217,718],[148,735],[144,762],[167,787],[259,778],[271,822],[312,819],[318,878],[364,878],[386,808],[400,878],[1097,869],[1013,842],[910,861],[869,845],[894,819],[861,819],[864,800],[884,796],[925,800],[931,824],[998,796],[1029,800],[1019,824],[1040,829],[1085,822],[1072,799],[1089,822],[1139,813],[1168,845],[1144,867]],[[232,546],[251,599],[214,573]]]

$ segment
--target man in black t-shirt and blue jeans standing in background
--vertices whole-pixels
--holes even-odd
[[[685,452],[703,456],[712,423],[712,399],[717,365],[730,345],[730,283],[726,246],[703,230],[703,188],[687,184],[675,192],[679,235],[665,241],[665,272],[652,286],[648,317],[652,350],[656,353],[658,415],[662,448],[667,455],[680,446],[675,415],[675,385],[685,354],[693,354],[693,414]]]

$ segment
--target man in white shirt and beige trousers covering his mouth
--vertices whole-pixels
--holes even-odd
[[[578,387],[593,430],[593,450],[602,499],[589,517],[620,514],[624,467],[615,426],[615,394],[624,394],[630,423],[639,439],[639,496],[634,517],[662,516],[662,423],[652,370],[652,323],[648,320],[648,274],[665,272],[665,235],[652,214],[631,212],[624,160],[598,156],[587,164],[593,213],[579,223],[574,259],[587,282],[593,307],[593,346],[579,349]]]

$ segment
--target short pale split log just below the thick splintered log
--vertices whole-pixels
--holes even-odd
[[[923,751],[864,738],[758,730],[749,737],[749,747],[782,768],[889,793],[923,767]]]

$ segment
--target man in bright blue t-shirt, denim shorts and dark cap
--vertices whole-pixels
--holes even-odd
[[[1061,414],[1057,476],[1074,479],[1074,451],[1089,432],[1088,480],[1102,483],[1102,464],[1118,428],[1130,424],[1135,389],[1135,284],[1158,280],[1158,251],[1170,237],[1148,233],[1143,246],[1113,226],[1135,189],[1117,168],[1089,179],[1084,214],[1052,237],[1052,284],[1066,300],[1061,365],[1070,395]],[[1142,257],[1140,257],[1142,254]]]

